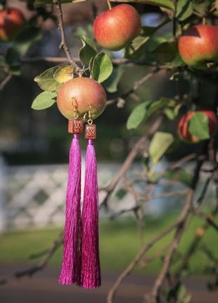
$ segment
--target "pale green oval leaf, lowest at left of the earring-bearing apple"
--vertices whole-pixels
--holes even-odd
[[[48,109],[51,107],[53,104],[56,103],[56,97],[57,93],[56,92],[41,92],[36,99],[32,102],[32,109],[35,109],[37,111],[41,109]]]

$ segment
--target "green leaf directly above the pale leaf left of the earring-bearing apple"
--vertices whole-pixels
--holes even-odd
[[[60,83],[53,78],[53,75],[58,68],[59,66],[53,66],[53,68],[45,70],[44,73],[35,77],[34,81],[37,82],[39,87],[43,90],[49,90],[51,92],[57,90],[60,87]]]

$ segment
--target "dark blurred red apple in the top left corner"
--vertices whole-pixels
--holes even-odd
[[[23,13],[18,8],[6,8],[0,11],[0,41],[14,39],[25,24]]]

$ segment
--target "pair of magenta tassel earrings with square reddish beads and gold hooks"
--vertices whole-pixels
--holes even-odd
[[[92,123],[90,112],[87,122],[84,131],[88,145],[82,211],[80,206],[81,151],[79,134],[83,132],[84,120],[78,118],[75,109],[74,119],[69,120],[68,123],[68,132],[72,133],[73,137],[70,146],[63,262],[59,283],[96,288],[101,285],[101,269],[98,252],[98,181],[94,149],[96,125]]]

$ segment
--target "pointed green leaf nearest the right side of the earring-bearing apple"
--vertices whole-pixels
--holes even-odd
[[[145,101],[134,108],[127,120],[127,130],[138,128],[146,116],[148,104],[150,104],[150,101]]]

